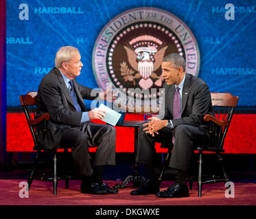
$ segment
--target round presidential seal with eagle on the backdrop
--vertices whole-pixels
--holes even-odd
[[[170,53],[182,55],[187,73],[198,76],[200,53],[187,25],[158,8],[135,8],[115,16],[100,32],[93,73],[100,88],[118,92],[121,109],[157,112],[164,95],[161,62]]]

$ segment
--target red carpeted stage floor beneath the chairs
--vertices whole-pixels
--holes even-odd
[[[24,179],[0,179],[0,205],[256,205],[256,183],[235,183],[235,197],[226,198],[224,183],[205,184],[202,197],[198,198],[197,185],[189,191],[188,198],[157,198],[154,194],[131,196],[131,184],[118,194],[91,195],[80,193],[80,181],[71,180],[69,188],[65,181],[58,181],[58,193],[53,194],[52,183],[34,180],[27,198],[19,196],[19,184]],[[106,181],[111,187],[120,181]],[[165,190],[174,181],[163,181]],[[22,193],[24,194],[24,193]]]

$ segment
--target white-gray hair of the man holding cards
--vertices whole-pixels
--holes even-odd
[[[69,62],[73,56],[78,54],[79,51],[75,47],[67,46],[60,47],[55,56],[55,67],[61,68],[62,62]]]

